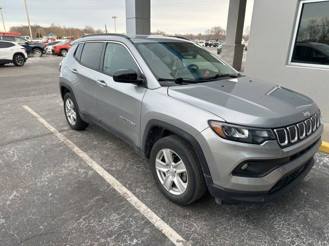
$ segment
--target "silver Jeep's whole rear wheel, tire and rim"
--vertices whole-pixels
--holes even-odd
[[[70,107],[68,107],[68,105],[70,105]],[[71,110],[68,111],[67,109],[70,108]],[[68,113],[70,113],[70,115],[68,115]],[[73,113],[73,114],[71,114]],[[70,126],[70,128],[72,128],[73,130],[76,131],[80,131],[80,130],[84,130],[89,124],[85,121],[83,121],[80,117],[78,108],[77,108],[77,103],[75,98],[72,96],[71,93],[66,93],[64,96],[64,114],[65,114],[65,118],[67,121],[67,124]],[[75,120],[74,120],[74,115],[76,116]]]

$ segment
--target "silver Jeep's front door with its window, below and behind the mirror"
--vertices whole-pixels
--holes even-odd
[[[136,61],[125,46],[107,43],[102,66],[104,73],[99,73],[96,78],[101,124],[139,147],[140,112],[147,89],[115,82],[112,75],[119,69],[133,69],[140,73]]]

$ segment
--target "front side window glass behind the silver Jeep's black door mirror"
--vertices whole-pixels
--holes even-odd
[[[138,72],[135,60],[126,48],[119,44],[107,43],[103,71],[112,75],[119,69],[133,69]]]

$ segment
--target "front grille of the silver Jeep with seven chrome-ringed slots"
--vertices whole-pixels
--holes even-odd
[[[321,125],[320,111],[297,124],[274,129],[281,147],[288,147],[312,135]]]

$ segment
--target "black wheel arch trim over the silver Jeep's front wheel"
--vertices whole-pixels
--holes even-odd
[[[142,154],[144,156],[146,156],[145,154],[145,147],[147,146],[147,140],[148,140],[148,136],[149,136],[149,133],[150,133],[150,130],[152,129],[152,127],[161,127],[165,130],[168,130],[168,131],[171,131],[175,134],[177,134],[178,136],[186,139],[190,144],[191,146],[193,147],[194,149],[194,152],[200,162],[200,165],[202,167],[202,170],[204,172],[204,175],[205,176],[208,176],[208,178],[206,178],[206,181],[207,181],[207,185],[209,186],[210,183],[212,183],[212,178],[211,178],[211,175],[210,175],[210,170],[209,170],[209,167],[208,167],[208,163],[207,163],[207,160],[206,160],[206,157],[204,155],[204,152],[202,151],[198,141],[189,133],[187,133],[186,131],[184,130],[181,130],[173,125],[170,125],[166,122],[163,122],[163,121],[160,121],[160,120],[157,120],[157,119],[151,119],[146,127],[145,127],[145,131],[144,131],[144,134],[143,134],[143,138],[142,138],[142,148],[141,148],[141,151],[142,151]]]

